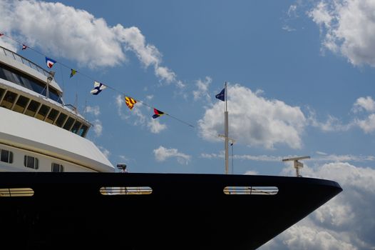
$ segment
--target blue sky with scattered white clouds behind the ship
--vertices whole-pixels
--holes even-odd
[[[0,0],[0,33],[58,61],[88,139],[131,172],[223,174],[227,81],[232,173],[293,176],[281,159],[308,155],[303,176],[344,189],[260,249],[374,249],[374,13],[374,0]],[[111,88],[93,96],[93,80]]]

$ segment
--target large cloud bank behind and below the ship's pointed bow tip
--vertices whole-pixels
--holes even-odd
[[[344,191],[261,249],[374,249],[375,170],[337,162],[304,168],[304,176],[337,181]]]

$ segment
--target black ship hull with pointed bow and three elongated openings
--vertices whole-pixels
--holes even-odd
[[[150,186],[103,195],[103,186]],[[227,195],[225,186],[277,186]],[[218,174],[10,173],[0,189],[1,246],[13,249],[256,249],[342,191],[322,179]]]

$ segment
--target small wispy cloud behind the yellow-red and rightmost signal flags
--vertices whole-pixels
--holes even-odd
[[[149,109],[149,107],[144,106],[140,102],[135,104],[136,107],[129,111],[128,106],[125,106],[123,96],[118,95],[115,97],[115,104],[117,106],[118,116],[124,121],[133,124],[133,126],[144,126],[153,134],[159,134],[161,131],[167,129],[167,125],[161,124],[160,120],[153,119],[151,116],[145,116],[143,114],[143,109]],[[123,111],[123,108],[125,108],[125,111]]]

